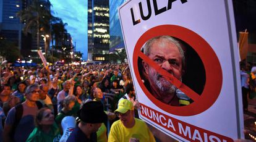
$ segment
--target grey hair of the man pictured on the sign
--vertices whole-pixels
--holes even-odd
[[[181,40],[174,38],[172,36],[164,35],[164,36],[156,36],[154,38],[151,38],[144,44],[143,53],[145,55],[149,56],[151,46],[153,45],[153,43],[155,43],[156,41],[159,41],[159,40],[168,40],[169,42],[171,42],[177,46],[177,48],[179,49],[179,54],[181,55],[182,69],[185,69],[185,55],[184,55],[184,50],[182,49],[183,45],[181,43]]]

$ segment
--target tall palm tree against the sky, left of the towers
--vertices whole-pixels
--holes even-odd
[[[30,4],[27,9],[20,10],[17,13],[17,16],[20,18],[20,21],[24,23],[23,32],[26,34],[28,32],[33,32],[36,30],[37,36],[37,49],[39,49],[40,42],[40,31],[43,35],[50,35],[50,20],[51,20],[51,12],[47,9],[46,6],[51,6],[49,1],[40,1],[33,0],[32,4]],[[48,40],[50,40],[49,38]],[[45,52],[48,49],[48,43],[46,42]]]

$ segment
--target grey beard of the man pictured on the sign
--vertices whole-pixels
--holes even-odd
[[[155,84],[158,88],[158,91],[161,96],[167,96],[169,94],[176,93],[177,87],[174,86],[171,82],[166,80],[162,75],[158,73],[152,73],[151,81],[153,81],[153,84]],[[181,78],[177,78],[181,80]],[[160,97],[161,97],[160,96]]]

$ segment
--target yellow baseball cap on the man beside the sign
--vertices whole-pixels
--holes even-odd
[[[118,108],[114,112],[120,112],[121,114],[125,114],[129,110],[134,110],[134,105],[128,99],[122,99],[118,103]]]

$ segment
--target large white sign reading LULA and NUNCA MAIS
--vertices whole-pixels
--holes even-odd
[[[141,119],[179,141],[244,138],[232,1],[130,0],[119,17]]]

